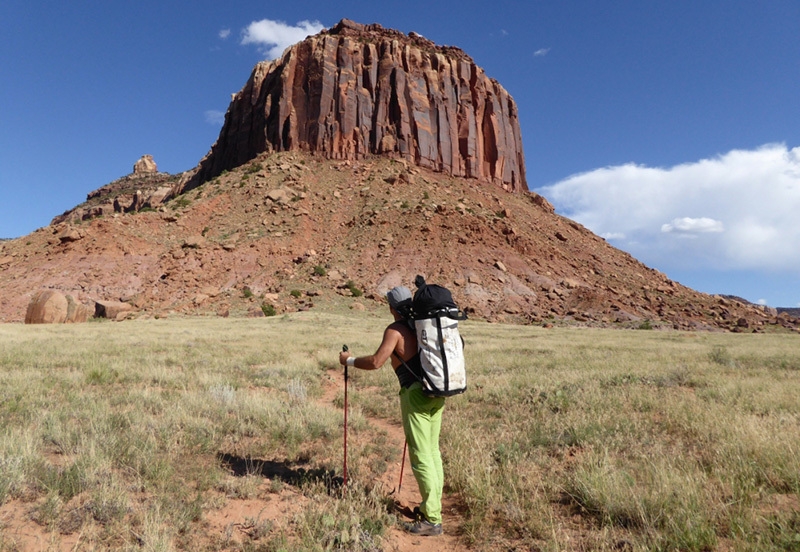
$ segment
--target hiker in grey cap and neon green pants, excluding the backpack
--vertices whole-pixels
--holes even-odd
[[[378,350],[373,355],[357,358],[343,351],[339,354],[339,363],[361,370],[377,370],[391,358],[392,368],[400,381],[400,413],[408,442],[411,470],[422,496],[419,509],[415,509],[418,512],[417,520],[406,524],[406,530],[420,536],[441,535],[444,471],[439,451],[439,432],[444,397],[429,397],[422,391],[417,336],[402,314],[411,305],[411,291],[398,286],[391,289],[386,298],[394,322],[383,332],[383,341]]]

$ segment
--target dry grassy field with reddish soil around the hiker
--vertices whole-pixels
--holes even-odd
[[[322,394],[341,345],[373,352],[388,321],[0,325],[0,512],[55,550],[380,550],[392,500],[358,482],[397,458],[373,423],[399,415],[396,379],[353,376],[344,499],[341,396]],[[462,334],[470,388],[448,400],[442,452],[465,546],[800,550],[800,337]],[[209,525],[287,493],[302,508],[254,513],[244,538]],[[0,551],[21,549],[0,515]]]

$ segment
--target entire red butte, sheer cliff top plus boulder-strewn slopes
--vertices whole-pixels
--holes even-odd
[[[527,191],[498,83],[457,48],[348,21],[256,66],[197,168],[168,175],[145,156],[0,242],[0,321],[25,319],[41,290],[120,318],[385,308],[416,274],[492,321],[798,326],[670,281],[555,214]]]

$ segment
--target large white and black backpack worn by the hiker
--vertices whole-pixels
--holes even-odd
[[[467,373],[458,322],[466,320],[467,315],[448,289],[427,284],[422,276],[417,276],[414,284],[417,291],[407,317],[417,333],[422,389],[435,397],[463,393],[467,390]]]

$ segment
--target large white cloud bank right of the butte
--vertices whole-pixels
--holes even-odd
[[[537,191],[663,271],[800,270],[800,147],[768,144],[669,168],[605,167]]]

